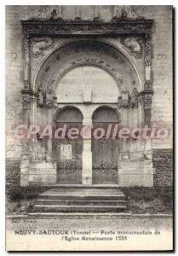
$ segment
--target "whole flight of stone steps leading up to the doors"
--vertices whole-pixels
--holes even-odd
[[[34,212],[123,212],[125,208],[125,195],[118,186],[103,185],[54,187],[34,203]]]

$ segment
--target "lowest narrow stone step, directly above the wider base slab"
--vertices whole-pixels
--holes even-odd
[[[126,206],[34,206],[36,212],[123,212],[124,209]]]

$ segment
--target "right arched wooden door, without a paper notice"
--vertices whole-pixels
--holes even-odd
[[[97,122],[98,119],[100,119],[99,122]],[[112,111],[106,109],[105,112],[102,109],[99,114],[94,116],[94,131],[99,127],[108,131],[109,125],[112,126],[112,131],[115,125],[118,125],[118,116],[112,115]],[[112,139],[112,137],[92,138],[94,184],[118,184],[118,150],[118,139]]]

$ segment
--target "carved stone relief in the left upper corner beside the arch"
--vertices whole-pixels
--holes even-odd
[[[32,55],[37,57],[43,53],[43,50],[48,49],[53,44],[51,38],[33,38],[32,39]]]

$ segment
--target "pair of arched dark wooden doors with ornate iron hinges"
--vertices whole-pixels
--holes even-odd
[[[67,131],[71,128],[78,128],[78,131],[81,131],[82,125],[83,115],[77,108],[64,108],[56,119],[55,130],[60,128],[65,133],[65,137],[61,138],[62,131],[59,132],[60,138],[55,139],[53,148],[57,163],[57,183],[83,183],[83,138],[67,136]],[[93,184],[118,184],[119,143],[118,139],[112,138],[117,125],[118,114],[111,108],[99,108],[93,114],[90,170]],[[102,137],[100,130],[105,133]]]

